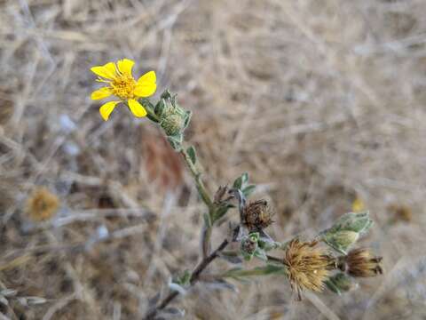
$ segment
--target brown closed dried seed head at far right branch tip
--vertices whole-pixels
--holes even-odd
[[[377,276],[383,274],[382,257],[375,257],[369,249],[359,248],[348,253],[345,259],[351,276]]]

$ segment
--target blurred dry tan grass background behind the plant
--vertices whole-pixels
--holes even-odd
[[[376,222],[363,244],[386,275],[357,291],[198,285],[185,318],[424,318],[425,17],[424,0],[0,1],[0,290],[16,291],[1,318],[138,319],[197,259],[203,207],[179,157],[89,98],[89,68],[122,57],[193,110],[211,190],[250,172],[273,236],[312,235],[357,196]],[[60,197],[51,222],[25,214],[36,185]]]

